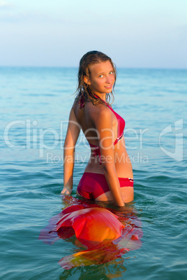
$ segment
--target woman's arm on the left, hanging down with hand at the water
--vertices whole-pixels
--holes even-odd
[[[61,194],[70,195],[73,189],[73,167],[75,157],[75,144],[81,127],[77,122],[73,108],[70,110],[68,130],[63,145],[63,190]]]

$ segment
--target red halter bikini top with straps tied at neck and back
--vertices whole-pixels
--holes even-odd
[[[100,98],[98,95],[94,95],[96,98]],[[80,99],[80,108],[84,107],[84,97],[82,97]],[[103,100],[104,101],[104,100]],[[105,102],[105,101],[104,101]],[[114,113],[114,115],[117,117],[117,123],[118,123],[118,132],[117,132],[117,139],[114,141],[114,145],[117,144],[117,142],[123,137],[124,135],[124,128],[126,125],[126,122],[124,120],[124,118],[121,118],[121,116],[119,116],[119,114],[117,114],[112,107],[110,107],[107,102],[105,102],[105,104],[107,105],[107,107]],[[91,148],[94,148],[93,150],[93,156],[95,157],[99,157],[100,158],[100,148],[99,146],[93,145],[91,143],[89,143],[89,146],[91,146]],[[101,164],[101,163],[100,163]]]

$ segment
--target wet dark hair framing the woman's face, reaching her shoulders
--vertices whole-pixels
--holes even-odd
[[[89,86],[84,82],[84,76],[87,76],[89,78],[91,75],[90,66],[105,61],[110,61],[110,63],[112,64],[114,77],[116,81],[117,79],[116,66],[114,65],[112,59],[110,59],[109,56],[103,54],[103,52],[98,52],[98,51],[87,52],[87,54],[84,54],[84,56],[82,56],[82,59],[80,60],[79,71],[78,71],[78,85],[77,85],[77,91],[75,92],[77,96],[75,98],[75,102],[79,101],[82,103],[82,102],[91,101],[94,105],[97,104],[98,102],[105,104],[105,102],[103,102],[100,98],[96,98],[94,96],[94,93],[91,90],[91,86]],[[115,81],[114,81],[114,85],[115,85]],[[113,92],[107,93],[106,102],[108,104],[110,104],[110,98],[111,98],[110,95],[112,96],[112,102],[114,102]]]

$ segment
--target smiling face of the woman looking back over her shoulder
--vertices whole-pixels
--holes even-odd
[[[89,84],[97,95],[111,93],[115,77],[114,69],[110,61],[93,64],[89,67],[90,77],[84,76],[84,82]]]

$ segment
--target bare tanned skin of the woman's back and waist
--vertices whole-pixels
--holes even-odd
[[[110,114],[112,120],[113,142],[114,139],[117,139],[117,118],[116,116],[114,116],[112,111],[107,108],[107,106],[100,103],[93,105],[92,102],[85,102],[84,107],[80,109],[79,102],[74,102],[73,110],[75,112],[77,122],[82,127],[82,131],[84,132],[84,135],[89,143],[95,146],[99,146],[99,135],[96,130],[96,123],[102,122],[102,119],[99,118],[101,110],[104,114]],[[121,178],[133,178],[132,164],[126,152],[124,137],[121,139],[121,141],[119,141],[119,143],[117,143],[117,145],[114,146],[114,153],[117,175]],[[96,160],[96,158],[93,157],[92,153],[85,171],[93,173],[103,173],[102,164],[99,164],[99,160]]]

